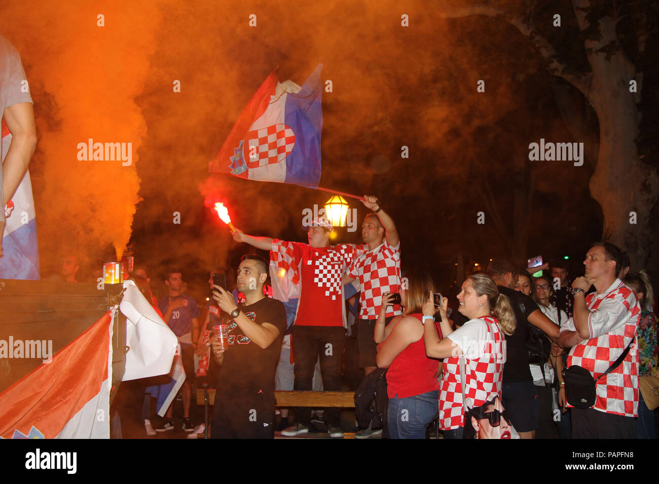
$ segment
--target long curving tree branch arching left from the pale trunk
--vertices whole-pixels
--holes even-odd
[[[498,7],[487,5],[485,3],[463,5],[461,7],[445,7],[445,9],[440,7],[441,18],[464,18],[471,15],[483,15],[493,18],[500,18],[501,20],[505,20],[505,22],[517,28],[521,34],[530,38],[530,40],[533,42],[533,45],[535,45],[536,49],[538,49],[542,57],[549,61],[548,70],[550,74],[565,79],[567,82],[581,91],[581,94],[585,95],[588,101],[592,101],[590,99],[590,81],[592,74],[585,74],[583,72],[572,74],[571,72],[568,72],[567,66],[558,60],[558,51],[556,51],[554,45],[552,45],[550,41],[546,40],[546,38],[538,34],[532,24],[525,22],[519,16],[514,16]]]

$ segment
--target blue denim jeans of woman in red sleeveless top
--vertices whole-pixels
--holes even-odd
[[[389,398],[389,435],[391,439],[425,439],[426,429],[438,416],[440,390],[407,398]]]

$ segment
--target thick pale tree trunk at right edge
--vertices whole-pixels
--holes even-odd
[[[588,5],[585,0],[575,0],[575,7],[579,3]],[[575,9],[575,14],[583,28],[585,13]],[[588,97],[600,123],[600,152],[590,178],[590,194],[604,214],[602,240],[626,250],[635,271],[645,267],[648,259],[652,240],[650,212],[659,196],[659,176],[639,160],[637,94],[629,92],[635,67],[622,49],[608,59],[604,52],[598,52],[617,42],[613,18],[602,18],[599,26],[600,40],[585,41],[592,67]]]

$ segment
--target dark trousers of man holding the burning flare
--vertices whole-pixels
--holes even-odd
[[[341,391],[341,360],[345,346],[345,329],[343,326],[295,326],[293,327],[293,360],[295,360],[294,390],[312,390],[314,367],[320,357],[320,374],[323,377],[323,389],[331,392]],[[309,426],[311,409],[297,408],[295,419],[302,425]],[[341,426],[341,409],[325,410],[325,423],[328,427]]]

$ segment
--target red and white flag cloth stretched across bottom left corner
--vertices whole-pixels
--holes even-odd
[[[0,437],[109,439],[112,313],[0,393]]]

